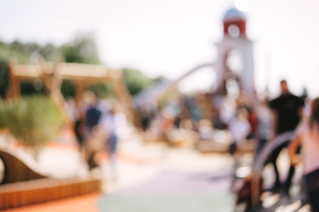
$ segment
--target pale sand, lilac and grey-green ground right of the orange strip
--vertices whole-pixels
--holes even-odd
[[[105,180],[109,183],[98,201],[101,212],[232,211],[229,156],[143,145],[139,139],[121,145],[118,180]]]

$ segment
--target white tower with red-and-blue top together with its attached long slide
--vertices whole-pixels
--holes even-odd
[[[203,67],[210,67],[212,72],[216,71],[216,80],[209,91],[210,96],[224,95],[227,81],[234,80],[239,89],[244,90],[251,98],[255,98],[253,42],[246,35],[246,14],[236,8],[230,8],[223,17],[223,27],[223,39],[216,43],[217,59],[215,62],[199,65],[176,80],[163,83],[154,89],[145,89],[144,92],[135,96],[136,104],[156,101],[182,79]],[[236,61],[232,61],[233,59]]]

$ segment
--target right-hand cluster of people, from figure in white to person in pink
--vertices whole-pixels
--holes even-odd
[[[224,123],[232,134],[229,147],[231,154],[236,151],[238,143],[254,137],[257,138],[255,153],[258,156],[262,147],[272,138],[294,131],[293,139],[275,148],[266,162],[273,164],[276,174],[272,189],[289,196],[295,167],[303,162],[303,188],[312,211],[319,212],[319,98],[309,101],[306,96],[292,94],[286,80],[280,81],[280,88],[281,94],[277,98],[256,102],[253,106],[249,98],[246,105],[241,98],[228,102],[226,98],[220,100],[217,104],[220,106],[217,123]],[[288,148],[290,167],[286,180],[281,184],[277,159],[284,148]]]

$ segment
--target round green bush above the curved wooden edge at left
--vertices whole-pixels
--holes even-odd
[[[0,128],[7,128],[37,158],[47,141],[54,139],[63,125],[62,115],[45,96],[0,100]]]

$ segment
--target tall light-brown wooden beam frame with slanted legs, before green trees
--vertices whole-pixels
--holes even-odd
[[[20,83],[23,81],[42,81],[49,97],[58,106],[65,122],[71,124],[65,110],[65,99],[61,93],[63,80],[70,80],[75,88],[75,102],[82,100],[84,93],[91,85],[109,83],[129,118],[135,118],[131,105],[131,96],[122,78],[122,71],[103,65],[77,63],[50,63],[41,60],[37,64],[16,64],[10,60],[10,86],[7,98],[20,97]]]

